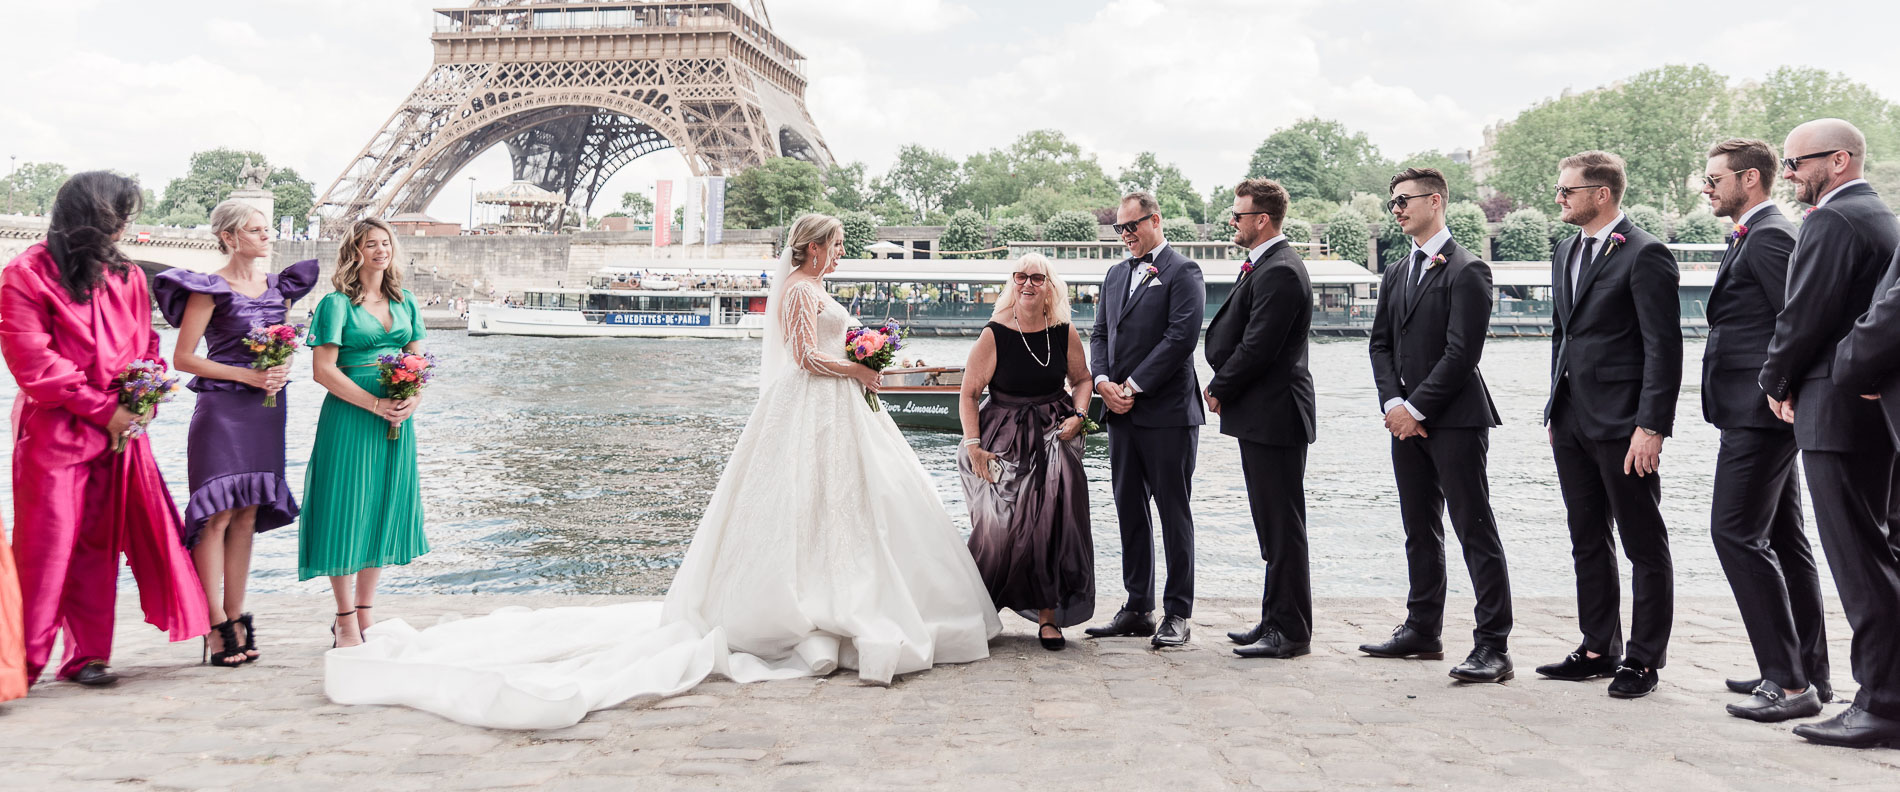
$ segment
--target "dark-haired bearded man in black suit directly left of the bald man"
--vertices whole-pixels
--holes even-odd
[[[1775,150],[1761,141],[1723,141],[1708,150],[1702,194],[1716,217],[1735,222],[1708,294],[1702,351],[1702,418],[1721,429],[1710,537],[1735,589],[1759,674],[1729,680],[1748,699],[1729,714],[1759,722],[1807,718],[1834,691],[1820,572],[1801,530],[1801,475],[1794,429],[1761,399],[1761,361],[1775,315],[1788,304],[1794,224],[1769,201]]]

